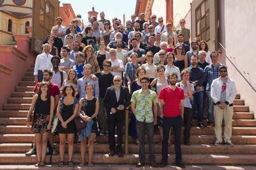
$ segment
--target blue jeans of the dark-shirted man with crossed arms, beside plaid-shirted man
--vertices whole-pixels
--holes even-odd
[[[193,94],[194,97],[194,105],[193,111],[197,113],[197,120],[198,123],[203,122],[203,91],[195,92]]]

